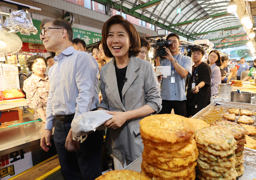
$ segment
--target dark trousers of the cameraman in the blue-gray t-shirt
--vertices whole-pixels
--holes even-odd
[[[186,100],[168,101],[162,100],[162,110],[159,114],[170,114],[174,108],[174,113],[186,117]]]

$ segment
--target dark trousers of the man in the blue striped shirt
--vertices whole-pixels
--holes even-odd
[[[65,148],[70,123],[55,122],[54,143],[58,152],[62,174],[66,180],[95,180],[101,175],[102,131],[88,134],[80,149],[69,152]]]

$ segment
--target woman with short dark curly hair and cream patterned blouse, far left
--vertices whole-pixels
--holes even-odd
[[[47,61],[42,56],[34,55],[27,59],[27,67],[29,71],[33,71],[23,84],[23,90],[27,95],[27,105],[34,110],[34,119],[42,119],[45,122],[50,87],[49,78],[44,74]]]

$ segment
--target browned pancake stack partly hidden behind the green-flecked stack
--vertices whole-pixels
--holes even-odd
[[[230,133],[234,136],[234,139],[237,142],[237,149],[235,149],[235,170],[238,174],[237,176],[242,175],[244,173],[243,151],[245,145],[245,135],[248,133],[248,131],[240,124],[227,120],[215,121],[211,125],[228,129]]]

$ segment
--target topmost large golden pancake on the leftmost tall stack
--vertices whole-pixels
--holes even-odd
[[[140,121],[142,138],[156,143],[176,143],[190,139],[195,126],[188,118],[176,114],[157,114]]]

